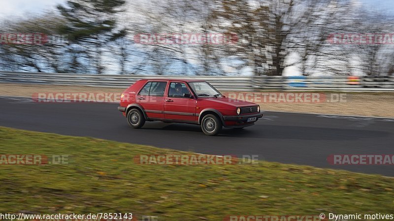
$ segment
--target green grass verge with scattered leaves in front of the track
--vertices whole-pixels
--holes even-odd
[[[226,215],[392,213],[394,179],[260,162],[258,165],[137,165],[150,146],[0,127],[0,154],[70,155],[68,165],[0,165],[0,212],[130,212],[166,221]]]

